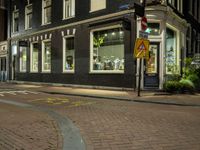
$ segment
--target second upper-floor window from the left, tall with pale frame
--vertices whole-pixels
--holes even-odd
[[[32,5],[27,5],[25,8],[25,29],[32,28]]]

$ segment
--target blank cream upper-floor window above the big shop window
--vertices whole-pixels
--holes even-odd
[[[90,0],[90,12],[106,8],[106,0]]]

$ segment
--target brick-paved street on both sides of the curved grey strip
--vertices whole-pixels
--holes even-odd
[[[30,92],[4,93],[0,97],[4,100],[0,102],[1,150],[62,149],[67,138],[63,136],[58,120],[43,109],[70,119],[79,129],[87,150],[200,149],[199,106],[45,94],[31,92],[30,88],[23,90]],[[1,89],[2,93],[4,91]],[[34,109],[6,104],[5,101],[29,104]]]

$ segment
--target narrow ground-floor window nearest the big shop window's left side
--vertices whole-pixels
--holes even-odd
[[[63,41],[63,71],[74,72],[75,48],[74,37],[65,37]]]

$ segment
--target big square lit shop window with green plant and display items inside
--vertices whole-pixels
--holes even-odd
[[[124,32],[121,27],[91,32],[91,72],[124,72]]]

